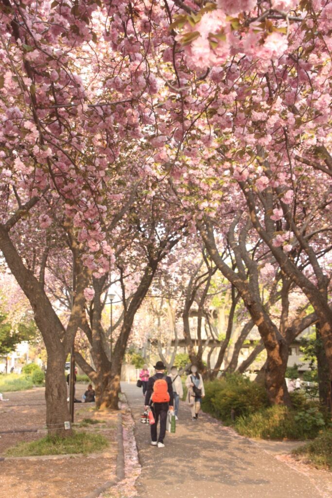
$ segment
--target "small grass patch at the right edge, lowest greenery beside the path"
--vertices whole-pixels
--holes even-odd
[[[304,457],[319,469],[332,471],[332,430],[323,431],[316,439],[292,453]]]

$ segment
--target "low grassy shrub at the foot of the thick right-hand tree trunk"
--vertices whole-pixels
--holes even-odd
[[[311,420],[308,423],[302,423],[296,417],[295,410],[287,406],[274,405],[239,417],[235,429],[242,436],[263,439],[311,439],[317,436],[322,427],[321,414],[311,413]],[[323,420],[323,426],[324,424]]]

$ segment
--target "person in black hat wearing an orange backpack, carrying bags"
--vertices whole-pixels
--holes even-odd
[[[151,407],[154,424],[150,425],[151,444],[164,448],[166,434],[167,412],[173,409],[173,386],[172,380],[165,375],[166,367],[163,362],[157,362],[154,366],[156,373],[149,378],[145,393],[145,410]],[[157,438],[157,425],[160,419],[159,437]]]

